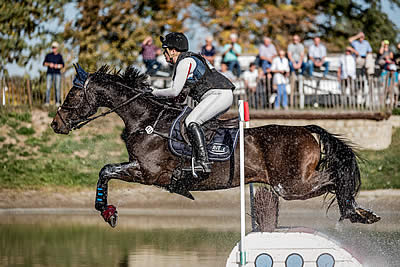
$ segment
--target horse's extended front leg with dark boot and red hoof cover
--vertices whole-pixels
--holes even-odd
[[[117,223],[118,213],[116,207],[107,205],[108,182],[111,179],[119,179],[126,182],[140,182],[142,172],[137,161],[107,164],[100,173],[97,181],[95,208],[101,212],[102,217],[112,227]]]

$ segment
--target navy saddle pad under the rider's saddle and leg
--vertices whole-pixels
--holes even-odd
[[[181,134],[182,123],[186,116],[192,111],[185,107],[182,113],[175,119],[169,132],[168,147],[172,154],[178,157],[192,157],[192,147]],[[210,161],[226,161],[232,155],[239,136],[239,128],[207,128],[207,122],[202,127],[206,136],[208,158]],[[238,125],[239,126],[239,125]],[[212,133],[210,132],[212,131]],[[210,137],[210,140],[207,140]]]

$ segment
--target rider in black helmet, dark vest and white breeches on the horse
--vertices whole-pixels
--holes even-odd
[[[185,126],[194,149],[195,168],[211,172],[204,133],[201,125],[226,112],[232,105],[235,86],[215,70],[200,54],[188,52],[189,43],[183,33],[171,32],[160,36],[164,57],[174,65],[172,85],[167,89],[153,89],[160,97],[177,97],[183,89],[198,105],[185,119]],[[197,168],[196,168],[197,169]]]

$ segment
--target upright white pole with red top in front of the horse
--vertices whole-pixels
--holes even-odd
[[[244,182],[244,124],[249,121],[249,105],[239,100],[239,134],[240,134],[240,266],[247,263],[244,238],[246,235],[246,202]]]

